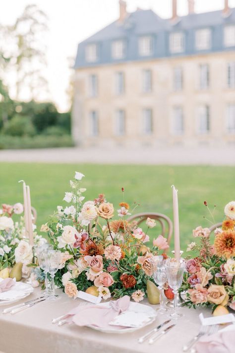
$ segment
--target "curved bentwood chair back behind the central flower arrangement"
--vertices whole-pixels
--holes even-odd
[[[128,222],[136,221],[137,225],[139,225],[140,223],[146,221],[148,217],[155,219],[156,222],[160,224],[161,226],[160,234],[165,238],[167,238],[167,242],[170,245],[171,238],[172,238],[172,231],[173,231],[173,223],[167,215],[162,213],[155,213],[155,212],[154,213],[143,212],[143,213],[133,214],[127,219],[127,221]]]

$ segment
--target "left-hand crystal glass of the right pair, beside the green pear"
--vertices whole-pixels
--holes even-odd
[[[158,255],[151,258],[153,268],[153,279],[160,289],[160,308],[157,310],[159,314],[165,314],[169,309],[163,303],[163,285],[167,282],[166,264],[168,256]]]

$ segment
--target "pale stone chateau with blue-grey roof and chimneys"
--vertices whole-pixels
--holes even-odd
[[[73,137],[80,145],[235,143],[235,9],[171,19],[126,12],[78,45]]]

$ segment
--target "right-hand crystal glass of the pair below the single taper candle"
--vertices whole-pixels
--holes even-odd
[[[183,271],[185,268],[185,260],[168,259],[167,261],[167,278],[170,287],[173,289],[174,296],[174,311],[171,313],[173,319],[178,319],[182,314],[177,313],[177,292],[183,280]]]

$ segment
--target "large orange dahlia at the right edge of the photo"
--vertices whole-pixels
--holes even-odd
[[[235,230],[224,230],[215,238],[215,253],[229,259],[235,256]]]

